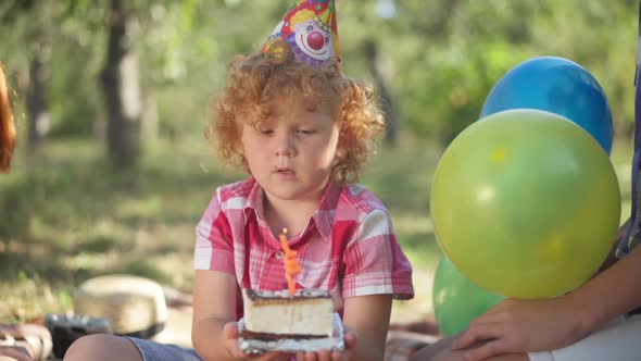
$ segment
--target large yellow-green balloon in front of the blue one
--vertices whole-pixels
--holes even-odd
[[[486,116],[443,153],[430,196],[443,252],[480,287],[548,298],[589,279],[609,252],[620,192],[606,153],[561,115]]]

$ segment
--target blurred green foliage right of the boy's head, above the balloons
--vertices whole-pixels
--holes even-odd
[[[478,117],[485,97],[506,71],[548,54],[574,60],[600,80],[617,128],[632,120],[634,1],[442,0],[397,5],[395,17],[373,21],[366,34],[376,36],[393,64],[402,124],[423,137],[447,146]],[[344,24],[344,12],[341,18]]]

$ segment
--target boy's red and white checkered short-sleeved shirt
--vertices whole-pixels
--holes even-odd
[[[328,290],[338,311],[345,297],[414,297],[412,266],[389,213],[362,186],[327,186],[305,229],[289,245],[300,264],[297,288]],[[193,267],[234,274],[240,288],[279,290],[287,288],[282,257],[263,216],[263,189],[255,179],[216,189],[196,227]],[[238,307],[241,311],[240,297]]]

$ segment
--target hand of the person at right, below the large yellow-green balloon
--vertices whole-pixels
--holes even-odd
[[[503,353],[565,347],[585,336],[576,310],[564,296],[544,300],[507,299],[470,322],[452,349],[482,343],[464,353],[467,361],[477,361]]]

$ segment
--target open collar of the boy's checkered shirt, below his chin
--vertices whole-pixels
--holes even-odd
[[[255,182],[255,179],[252,180],[254,184],[249,192],[249,196],[247,197],[247,202],[243,207],[246,225],[252,211],[256,213],[256,217],[264,220],[263,188],[257,182]],[[327,187],[325,187],[323,198],[320,198],[318,207],[312,215],[312,220],[316,225],[316,229],[318,229],[318,234],[327,241],[331,240],[331,226],[334,225],[336,206],[338,203],[341,189],[342,187],[339,184],[330,182]]]

